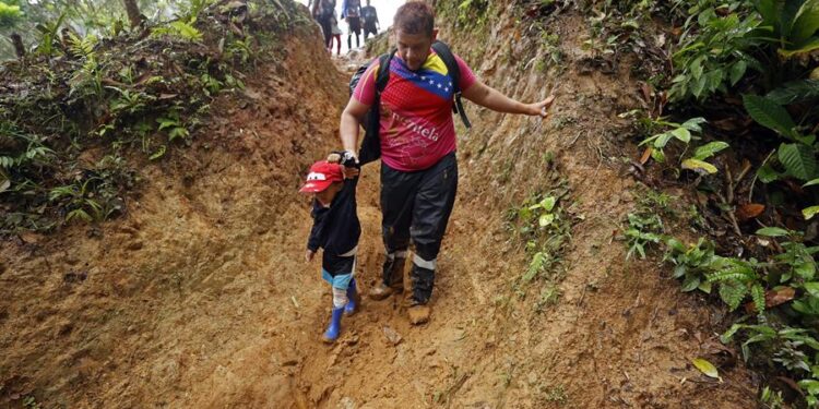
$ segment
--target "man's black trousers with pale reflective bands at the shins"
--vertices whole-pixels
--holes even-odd
[[[410,277],[414,303],[425,304],[432,296],[438,252],[456,191],[454,152],[419,171],[400,171],[381,165],[381,233],[387,263],[401,260],[403,265],[412,240],[415,255]],[[394,285],[391,270],[393,268],[384,268],[383,280],[388,286]]]

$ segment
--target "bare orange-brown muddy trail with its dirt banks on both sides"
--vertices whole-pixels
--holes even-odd
[[[752,407],[741,363],[722,382],[690,363],[724,353],[724,311],[613,240],[640,194],[616,159],[629,149],[617,115],[638,104],[628,64],[577,70],[583,17],[567,13],[550,23],[566,69],[521,70],[546,51],[521,39],[511,10],[487,23],[491,44],[446,24],[442,37],[507,95],[559,85],[558,103],[546,121],[468,106],[428,324],[411,326],[397,297],[365,299],[339,342],[320,340],[331,294],[302,261],[297,188],[337,147],[348,64],[293,37],[286,70],[259,70],[182,157],[143,168],[126,217],[2,243],[0,407]],[[358,188],[364,291],[382,260],[377,167]],[[531,255],[508,210],[558,184],[573,220],[560,279],[522,282]]]

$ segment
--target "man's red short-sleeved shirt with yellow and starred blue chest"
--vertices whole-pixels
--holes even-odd
[[[475,74],[455,56],[461,69],[461,91],[475,83]],[[358,82],[353,97],[370,106],[376,100],[378,58]],[[381,160],[401,171],[424,170],[456,148],[452,119],[452,77],[443,60],[430,50],[418,71],[411,71],[396,55],[390,64],[390,81],[381,94]]]

